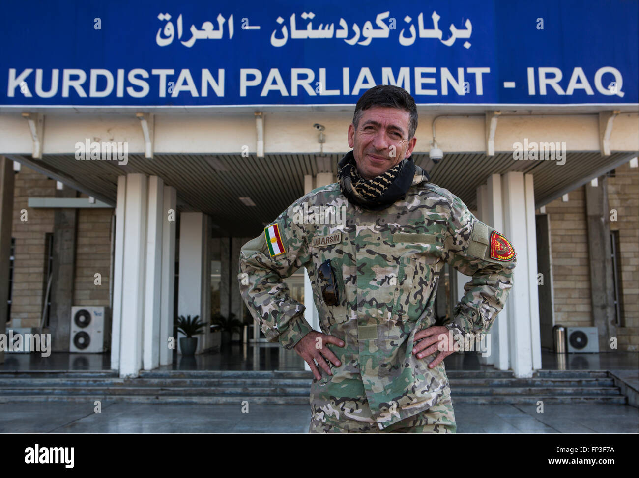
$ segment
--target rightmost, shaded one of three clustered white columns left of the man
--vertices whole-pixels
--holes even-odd
[[[173,349],[168,346],[173,337],[173,303],[175,286],[175,222],[177,191],[165,186],[162,206],[162,281],[160,283],[160,365],[173,362]]]

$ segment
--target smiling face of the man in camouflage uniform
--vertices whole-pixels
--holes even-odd
[[[348,146],[362,177],[379,176],[410,157],[417,138],[408,140],[409,121],[408,111],[373,106],[362,112],[357,130],[352,123],[348,126]]]

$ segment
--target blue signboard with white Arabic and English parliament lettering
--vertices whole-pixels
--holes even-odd
[[[0,105],[636,104],[636,0],[26,1]]]

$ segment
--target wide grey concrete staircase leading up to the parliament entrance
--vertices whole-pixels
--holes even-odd
[[[453,403],[626,404],[606,371],[448,371]],[[85,402],[250,403],[308,405],[307,371],[142,371],[119,378],[114,371],[0,371],[0,403]]]

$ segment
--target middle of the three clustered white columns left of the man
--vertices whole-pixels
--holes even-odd
[[[164,181],[148,179],[146,220],[146,270],[144,286],[144,332],[142,343],[144,370],[160,365],[160,282],[162,280],[162,224],[164,224]]]

